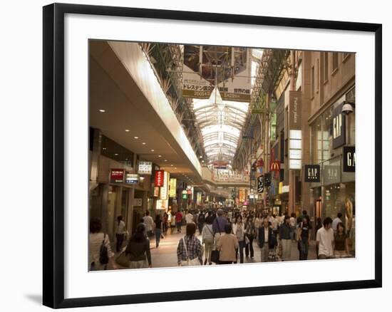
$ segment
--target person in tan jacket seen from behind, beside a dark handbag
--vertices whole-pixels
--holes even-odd
[[[237,263],[237,236],[232,234],[232,224],[225,225],[225,235],[217,243],[217,250],[220,251],[219,261],[217,264],[233,264]],[[242,258],[243,258],[242,254]]]

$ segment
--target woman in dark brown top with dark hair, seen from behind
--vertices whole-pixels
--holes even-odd
[[[130,269],[151,267],[150,239],[145,234],[144,223],[138,224],[135,234],[129,239],[125,256],[129,256]]]

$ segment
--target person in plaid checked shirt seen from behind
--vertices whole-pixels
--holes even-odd
[[[189,223],[187,224],[187,234],[184,236],[184,239],[180,239],[177,246],[177,262],[178,265],[181,264],[181,261],[187,261],[187,256],[190,260],[198,258],[200,261],[200,265],[202,265],[202,244],[200,240],[195,236],[196,232],[196,224]],[[187,249],[185,250],[185,244],[187,245]]]

